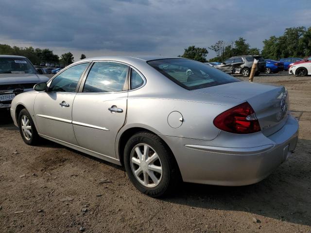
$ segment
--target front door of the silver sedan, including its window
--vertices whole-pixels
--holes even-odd
[[[35,98],[34,111],[38,133],[77,145],[72,128],[72,104],[79,79],[89,63],[69,67],[50,83],[46,92]]]

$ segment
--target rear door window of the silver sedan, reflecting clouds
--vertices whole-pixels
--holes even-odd
[[[115,62],[96,62],[90,69],[83,92],[122,91],[129,67]]]

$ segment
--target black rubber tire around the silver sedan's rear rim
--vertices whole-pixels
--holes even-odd
[[[132,168],[133,164],[131,164],[131,159],[132,159],[131,156],[133,153],[136,153],[134,148],[139,147],[139,145],[141,146],[141,144],[150,146],[151,149],[154,149],[154,152],[159,157],[160,166],[162,167],[162,175],[161,175],[159,183],[157,183],[156,186],[154,187],[147,187],[146,185],[143,185],[142,183],[140,183],[138,181],[138,178],[134,174],[134,171]],[[140,192],[151,197],[160,197],[160,196],[166,196],[170,194],[172,190],[174,190],[175,186],[181,180],[179,169],[173,157],[172,152],[167,147],[167,145],[162,141],[162,139],[153,133],[139,132],[139,133],[134,134],[127,141],[125,148],[124,148],[124,166],[125,166],[126,173],[130,181],[133,183],[133,185]],[[143,167],[143,165],[141,167]],[[141,171],[141,173],[143,173],[143,171]],[[151,178],[148,176],[148,179],[151,179]]]

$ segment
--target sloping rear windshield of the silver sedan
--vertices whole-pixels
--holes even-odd
[[[187,90],[241,81],[214,67],[189,59],[161,59],[147,63]]]

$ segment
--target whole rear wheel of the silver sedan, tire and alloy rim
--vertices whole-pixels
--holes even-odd
[[[134,186],[151,197],[170,193],[179,181],[172,152],[152,133],[136,133],[128,140],[124,148],[124,166]]]

